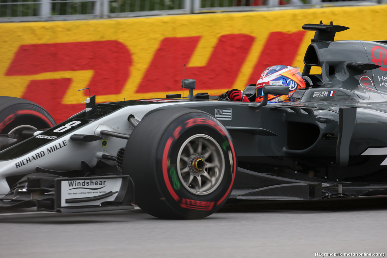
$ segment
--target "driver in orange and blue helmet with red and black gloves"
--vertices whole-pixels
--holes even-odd
[[[292,67],[287,65],[274,65],[267,67],[262,72],[259,80],[257,81],[257,93],[255,101],[263,100],[262,88],[264,85],[279,85],[289,86],[289,94],[286,95],[269,95],[268,101],[295,101],[291,96],[297,89],[312,86],[312,81],[307,76],[302,76],[299,67]],[[246,94],[239,89],[231,89],[219,96],[219,98],[231,101],[249,101]],[[250,98],[250,97],[249,97]],[[250,101],[251,100],[250,98]]]

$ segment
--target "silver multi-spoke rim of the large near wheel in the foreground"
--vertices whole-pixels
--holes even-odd
[[[224,175],[224,156],[219,144],[210,136],[196,134],[180,147],[178,175],[182,185],[193,194],[212,193]]]

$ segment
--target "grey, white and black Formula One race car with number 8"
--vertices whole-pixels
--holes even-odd
[[[0,208],[122,210],[202,218],[227,200],[316,200],[387,194],[387,41],[316,31],[310,85],[262,86],[261,102],[188,98],[95,104],[55,125],[38,105],[1,97]],[[321,67],[321,74],[310,74]],[[245,94],[255,95],[255,85]],[[48,129],[46,129],[48,128]],[[238,166],[237,166],[238,162]]]

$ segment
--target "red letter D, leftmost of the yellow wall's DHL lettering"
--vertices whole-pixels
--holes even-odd
[[[87,87],[98,96],[119,94],[131,65],[128,48],[115,40],[33,44],[19,47],[5,75],[92,70],[94,74]],[[38,103],[57,122],[62,122],[84,109],[84,104],[62,104],[71,83],[71,78],[30,81],[22,98]]]

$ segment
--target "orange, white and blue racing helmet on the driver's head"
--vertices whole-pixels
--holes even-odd
[[[259,80],[257,81],[257,95],[255,101],[263,100],[264,94],[262,88],[264,85],[289,86],[289,94],[287,96],[269,95],[267,96],[268,101],[292,101],[291,96],[296,89],[306,87],[300,68],[287,65],[270,66],[262,72],[261,77],[259,77]]]

